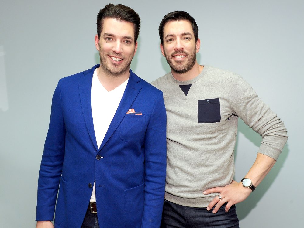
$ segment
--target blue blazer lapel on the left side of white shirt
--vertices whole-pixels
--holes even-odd
[[[80,103],[82,108],[83,117],[85,119],[85,125],[87,127],[88,133],[90,135],[91,141],[98,150],[97,141],[94,131],[92,107],[91,107],[91,88],[92,88],[92,78],[94,70],[99,67],[99,65],[93,66],[92,69],[83,72],[83,76],[78,77],[78,87]]]

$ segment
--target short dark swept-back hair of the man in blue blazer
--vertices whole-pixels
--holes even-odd
[[[97,15],[98,38],[100,38],[100,33],[102,31],[103,26],[103,19],[105,18],[115,18],[118,21],[126,21],[133,23],[134,39],[136,43],[140,29],[140,17],[133,9],[122,4],[114,5],[112,3],[102,8]]]

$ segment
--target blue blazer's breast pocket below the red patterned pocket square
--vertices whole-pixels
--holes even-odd
[[[138,142],[146,132],[145,116],[126,114],[120,123],[120,138],[126,142]]]

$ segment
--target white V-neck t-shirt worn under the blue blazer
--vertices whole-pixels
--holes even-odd
[[[116,113],[120,100],[123,97],[129,79],[115,89],[107,91],[99,81],[96,70],[97,68],[92,78],[91,108],[95,137],[99,148]],[[127,111],[128,110],[126,110],[126,112]],[[96,202],[95,182],[90,202]]]

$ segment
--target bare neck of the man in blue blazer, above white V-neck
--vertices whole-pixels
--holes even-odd
[[[117,75],[106,73],[101,67],[97,68],[96,71],[100,83],[107,91],[114,90],[116,87],[124,83],[130,76],[129,70]]]

